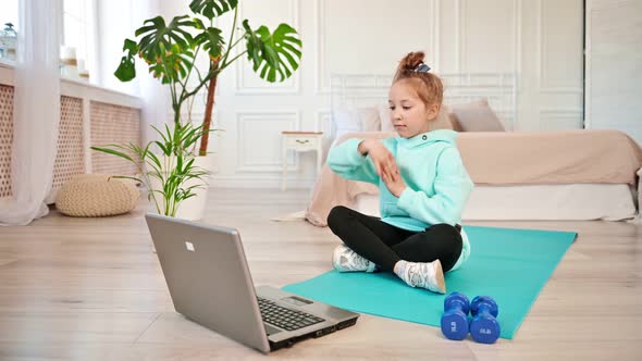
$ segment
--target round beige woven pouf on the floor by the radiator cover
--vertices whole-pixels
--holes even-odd
[[[65,182],[55,197],[55,208],[71,216],[107,216],[127,213],[140,194],[133,180],[107,174],[81,174]]]

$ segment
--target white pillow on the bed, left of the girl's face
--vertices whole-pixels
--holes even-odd
[[[381,130],[379,111],[375,107],[339,108],[333,111],[332,121],[335,141],[347,133]]]

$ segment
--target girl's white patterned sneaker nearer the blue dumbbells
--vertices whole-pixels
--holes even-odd
[[[446,292],[446,281],[440,260],[433,262],[399,261],[395,273],[408,286],[425,288],[437,294]]]

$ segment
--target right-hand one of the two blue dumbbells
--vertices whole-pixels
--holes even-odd
[[[493,344],[502,333],[497,314],[499,309],[497,302],[489,296],[478,296],[470,303],[470,335],[472,339],[481,344]]]

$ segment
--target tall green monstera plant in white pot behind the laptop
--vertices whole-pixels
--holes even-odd
[[[134,40],[125,39],[124,55],[114,73],[121,82],[129,82],[136,77],[136,58],[144,60],[149,73],[169,87],[173,124],[163,130],[155,128],[161,140],[143,148],[108,145],[92,149],[140,164],[141,174],[135,178],[148,187],[159,213],[196,220],[206,204],[211,164],[208,140],[215,130],[211,123],[219,75],[245,55],[262,79],[283,82],[298,69],[303,43],[287,24],[273,32],[264,25],[252,27],[248,20],[237,26],[238,0],[193,0],[189,9],[192,14],[174,16],[169,23],[161,16],[146,20]],[[226,13],[234,16],[229,37],[213,26],[214,18]],[[207,70],[195,65],[199,54],[207,55]],[[205,115],[194,124],[192,105],[203,89]]]

